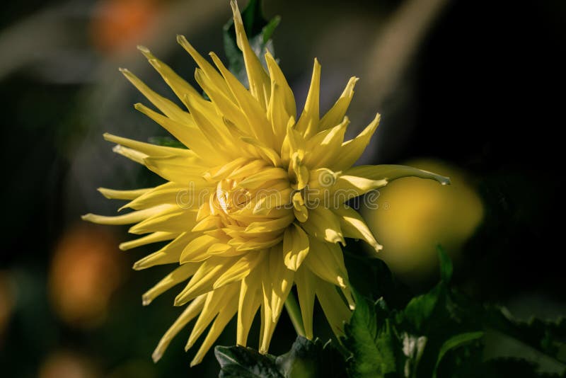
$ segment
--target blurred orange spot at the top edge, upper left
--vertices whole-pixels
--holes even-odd
[[[100,0],[91,21],[93,45],[105,53],[130,50],[151,33],[158,0]]]

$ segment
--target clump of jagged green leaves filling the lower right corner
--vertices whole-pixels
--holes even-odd
[[[376,259],[359,260],[376,263]],[[357,307],[345,326],[344,339],[352,353],[348,360],[350,376],[497,377],[499,370],[513,371],[513,362],[496,369],[483,361],[483,335],[489,329],[558,361],[565,359],[566,347],[560,340],[566,338],[564,320],[521,322],[499,307],[474,304],[449,287],[452,263],[441,248],[439,260],[441,281],[429,292],[412,298],[404,309],[390,310],[383,298],[373,303],[354,291]],[[518,361],[518,365],[529,365]]]

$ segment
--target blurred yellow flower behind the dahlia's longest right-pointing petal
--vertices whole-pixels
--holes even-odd
[[[458,259],[463,244],[483,219],[483,203],[465,173],[434,160],[406,164],[449,176],[451,185],[402,178],[379,190],[377,209],[362,214],[383,245],[380,257],[408,281],[430,277],[438,266],[437,246]]]

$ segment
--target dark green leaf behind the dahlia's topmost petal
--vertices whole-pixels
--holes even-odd
[[[255,52],[255,55],[258,55],[260,58],[260,62],[266,67],[265,57],[263,55],[266,49],[270,50],[272,55],[275,55],[271,38],[281,18],[275,16],[270,21],[263,18],[260,0],[250,0],[241,14],[244,30],[246,30],[250,46]],[[242,84],[249,86],[243,55],[236,43],[236,30],[233,20],[228,21],[226,25],[224,25],[224,52],[226,52],[226,57],[228,58],[229,70]]]

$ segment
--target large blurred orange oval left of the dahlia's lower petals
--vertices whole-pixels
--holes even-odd
[[[70,229],[55,248],[49,275],[52,305],[74,326],[96,326],[104,319],[122,265],[109,231],[81,225]]]

